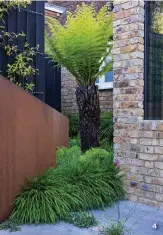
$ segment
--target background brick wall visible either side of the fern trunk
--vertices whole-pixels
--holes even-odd
[[[76,103],[76,81],[73,76],[65,69],[62,68],[61,72],[61,103],[62,112],[78,113]],[[113,90],[100,90],[99,91],[100,108],[102,111],[112,111],[113,109]]]

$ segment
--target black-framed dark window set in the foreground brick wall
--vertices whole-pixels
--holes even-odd
[[[159,83],[159,81],[157,80],[159,79],[159,75],[162,80],[162,76],[158,72],[159,71],[158,68],[160,67],[160,71],[162,71],[163,73],[163,61],[161,59],[161,62],[162,62],[161,65],[157,66],[157,63],[158,63],[157,62],[157,49],[158,49],[157,46],[158,46],[159,35],[151,31],[151,20],[152,20],[151,12],[153,10],[152,4],[154,4],[154,2],[155,1],[145,1],[145,6],[144,6],[145,8],[145,14],[144,14],[144,120],[163,120],[163,112],[161,112],[162,110],[161,106],[163,106],[163,98],[160,100],[161,103],[159,104],[159,91],[157,90],[157,87],[160,87],[160,85],[163,90],[163,81]],[[150,48],[150,45],[151,45],[150,43],[152,42],[151,36],[154,38],[153,40],[153,43],[154,43],[153,44],[153,48],[154,48],[153,56],[154,57],[150,57],[150,53],[152,50],[152,48]],[[162,35],[161,41],[162,41],[161,49],[163,50],[163,35]],[[154,58],[154,59],[151,60],[150,58]],[[153,64],[152,64],[152,61],[154,61]],[[151,74],[149,71],[151,71]],[[149,80],[149,78],[151,79],[151,81]],[[153,78],[155,79],[153,80]],[[149,86],[149,82],[151,82],[151,89]],[[151,91],[152,91],[152,94],[154,94],[154,96],[151,98],[152,101],[150,101],[150,98],[149,98]]]

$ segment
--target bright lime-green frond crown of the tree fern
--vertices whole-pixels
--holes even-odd
[[[47,26],[52,35],[45,37],[47,54],[66,67],[78,85],[91,85],[111,69],[110,64],[102,67],[112,47],[108,43],[113,34],[112,13],[107,5],[96,13],[93,4],[83,3],[74,15],[68,13],[64,26],[52,18],[47,19]]]

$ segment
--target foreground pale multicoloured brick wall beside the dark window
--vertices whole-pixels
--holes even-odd
[[[114,8],[114,157],[127,196],[163,207],[163,121],[144,120],[144,2]]]

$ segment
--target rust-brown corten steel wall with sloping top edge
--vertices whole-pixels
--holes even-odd
[[[68,145],[68,119],[0,76],[0,221],[26,177],[55,165],[57,146]]]

